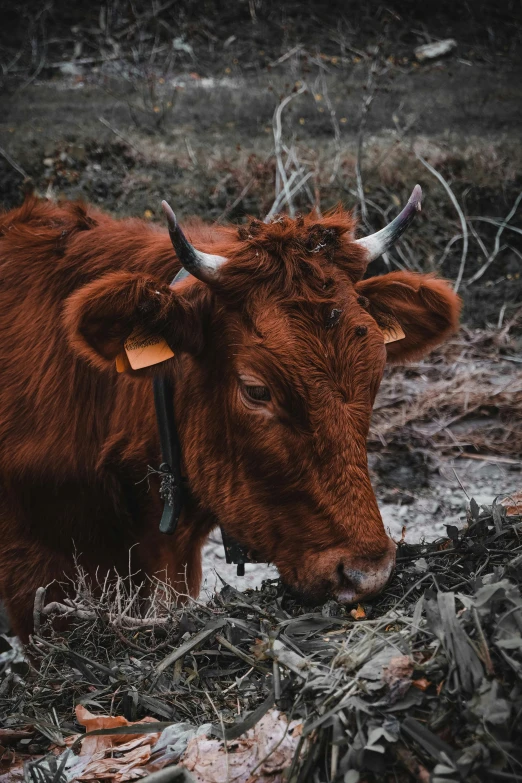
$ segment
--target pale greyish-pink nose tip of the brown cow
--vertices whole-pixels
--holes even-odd
[[[385,555],[375,560],[357,558],[337,566],[337,600],[354,604],[377,595],[386,587],[395,566],[396,546],[389,541]]]

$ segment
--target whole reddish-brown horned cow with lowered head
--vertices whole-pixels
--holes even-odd
[[[457,327],[431,275],[363,280],[420,208],[354,240],[354,220],[279,217],[166,231],[76,203],[29,198],[0,216],[0,596],[31,632],[35,589],[74,572],[167,571],[197,594],[201,548],[225,531],[315,601],[386,584],[366,437],[386,360],[417,359]],[[173,254],[171,239],[177,251]],[[200,252],[200,251],[206,252]],[[180,261],[191,272],[168,285]],[[199,279],[197,279],[199,278]],[[118,374],[129,335],[174,358]],[[401,332],[402,330],[402,332]],[[385,337],[395,339],[385,346]],[[174,381],[189,497],[158,531],[150,377]]]

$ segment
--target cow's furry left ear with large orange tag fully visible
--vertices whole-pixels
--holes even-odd
[[[139,370],[202,350],[209,297],[199,283],[173,290],[147,275],[111,272],[69,297],[65,329],[74,351],[97,367]]]

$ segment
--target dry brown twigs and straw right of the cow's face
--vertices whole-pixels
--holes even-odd
[[[522,455],[516,338],[463,328],[428,359],[386,374],[370,447],[413,443],[439,453]]]

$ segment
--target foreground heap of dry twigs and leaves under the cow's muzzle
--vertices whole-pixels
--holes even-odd
[[[52,743],[60,758],[26,765],[26,779],[60,783],[129,780],[179,760],[217,782],[225,758],[238,781],[280,780],[283,768],[293,781],[520,780],[522,515],[471,501],[467,527],[448,536],[401,544],[385,594],[351,611],[305,611],[273,581],[181,608],[159,582],[148,598],[121,578],[94,590],[81,577],[63,603],[41,591],[29,657],[0,657],[3,761]],[[101,778],[79,771],[78,722],[125,733]],[[259,757],[267,731],[279,766]],[[144,743],[147,763],[126,776],[121,759]]]

